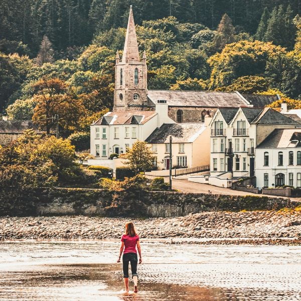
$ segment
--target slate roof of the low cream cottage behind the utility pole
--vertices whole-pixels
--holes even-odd
[[[173,143],[193,142],[206,127],[202,123],[164,123],[155,129],[145,140],[147,143],[169,143],[170,135]]]

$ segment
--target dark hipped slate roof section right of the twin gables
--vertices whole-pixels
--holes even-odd
[[[256,124],[285,124],[298,125],[299,123],[293,119],[286,117],[280,112],[271,108],[264,108],[258,117],[252,122]]]

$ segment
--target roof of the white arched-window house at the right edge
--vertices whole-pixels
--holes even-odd
[[[292,129],[274,129],[258,146],[257,148],[286,148],[298,147],[301,148],[301,128]],[[298,141],[292,141],[298,140]]]

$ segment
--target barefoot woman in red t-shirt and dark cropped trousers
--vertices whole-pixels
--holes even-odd
[[[123,263],[123,280],[125,291],[128,292],[128,263],[130,262],[130,268],[132,272],[132,278],[134,280],[134,292],[138,292],[138,275],[137,275],[137,250],[139,253],[139,263],[142,262],[141,257],[141,248],[139,242],[139,236],[137,235],[134,225],[132,222],[128,222],[125,224],[125,233],[121,236],[121,247],[119,252],[119,257],[117,262],[120,262],[120,257],[122,256]]]

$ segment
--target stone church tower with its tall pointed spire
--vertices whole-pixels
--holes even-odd
[[[115,112],[140,111],[147,105],[146,55],[140,61],[132,7],[130,6],[122,60],[116,53]]]

